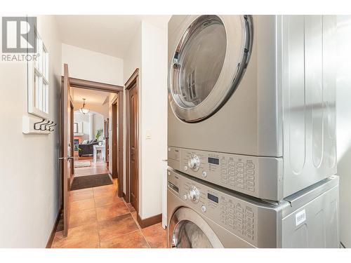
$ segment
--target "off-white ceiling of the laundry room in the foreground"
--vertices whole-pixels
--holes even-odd
[[[171,15],[56,15],[63,43],[124,58],[141,21],[167,27]]]

